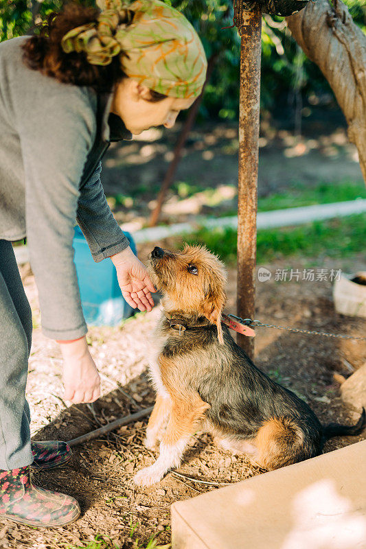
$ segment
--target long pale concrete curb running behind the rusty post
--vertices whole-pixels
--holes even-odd
[[[365,198],[347,200],[346,202],[332,202],[332,204],[261,211],[257,215],[257,228],[274,229],[275,227],[301,225],[312,221],[321,221],[363,212],[366,212]],[[231,216],[228,218],[218,219],[197,217],[194,223],[176,223],[174,225],[140,229],[139,231],[135,231],[135,233],[133,233],[133,238],[137,244],[142,244],[144,242],[156,242],[157,240],[162,240],[163,238],[170,236],[194,233],[202,227],[205,227],[205,229],[216,229],[217,227],[237,229],[238,217]],[[123,229],[124,226],[122,225],[122,230]],[[29,261],[27,246],[16,247],[14,248],[14,252],[16,262],[18,264],[23,264]]]

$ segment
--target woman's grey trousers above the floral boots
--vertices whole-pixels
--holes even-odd
[[[32,311],[11,242],[0,240],[0,469],[30,465],[30,408],[25,399]]]

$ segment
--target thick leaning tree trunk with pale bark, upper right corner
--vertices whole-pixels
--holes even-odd
[[[341,0],[309,2],[286,18],[293,37],[328,80],[358,149],[366,182],[366,36]]]

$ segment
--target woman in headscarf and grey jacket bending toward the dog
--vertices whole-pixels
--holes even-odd
[[[0,45],[0,514],[36,526],[68,524],[80,509],[30,480],[30,466],[60,465],[71,451],[30,440],[32,316],[11,242],[27,236],[43,333],[64,359],[65,399],[95,401],[73,227],[95,261],[111,257],[126,301],[150,311],[154,287],[108,208],[100,159],[111,141],[171,128],[201,93],[207,67],[193,27],[163,2],[100,7],[69,5],[40,35]]]

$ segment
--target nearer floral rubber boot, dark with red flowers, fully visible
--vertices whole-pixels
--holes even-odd
[[[64,526],[80,515],[70,495],[32,484],[30,467],[0,471],[0,517],[30,526]]]

